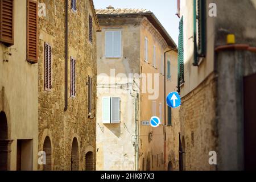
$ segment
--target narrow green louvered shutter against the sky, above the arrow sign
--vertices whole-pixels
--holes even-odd
[[[179,48],[178,48],[178,83],[177,87],[180,91],[180,84],[184,82],[184,57],[183,57],[183,17],[180,19],[179,26],[180,34],[179,34]]]

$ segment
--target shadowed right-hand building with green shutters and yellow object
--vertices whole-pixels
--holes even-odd
[[[256,1],[177,2],[180,169],[255,169]]]

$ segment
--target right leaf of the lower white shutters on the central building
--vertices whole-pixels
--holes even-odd
[[[111,123],[120,122],[120,98],[111,98]]]

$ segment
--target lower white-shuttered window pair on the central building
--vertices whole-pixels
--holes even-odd
[[[102,123],[119,123],[120,111],[119,97],[102,98]]]

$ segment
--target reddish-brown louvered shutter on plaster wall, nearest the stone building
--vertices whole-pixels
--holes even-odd
[[[27,61],[38,62],[38,2],[27,0]]]

